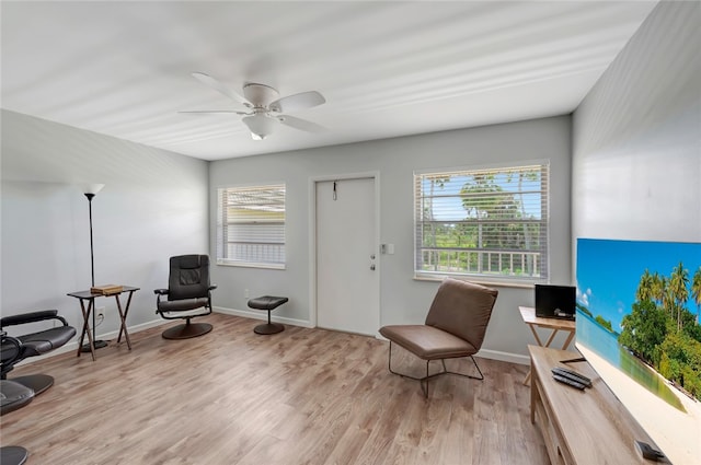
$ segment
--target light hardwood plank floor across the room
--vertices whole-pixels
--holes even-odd
[[[162,326],[134,334],[131,351],[111,341],[95,362],[70,352],[14,370],[56,383],[1,418],[2,444],[26,447],[28,465],[549,463],[527,367],[478,359],[484,381],[439,376],[424,399],[418,382],[388,372],[386,341],[200,321],[214,332],[165,340]],[[400,369],[424,370],[397,354]]]

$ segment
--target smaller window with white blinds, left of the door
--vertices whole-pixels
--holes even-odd
[[[217,194],[217,264],[285,268],[285,185]]]

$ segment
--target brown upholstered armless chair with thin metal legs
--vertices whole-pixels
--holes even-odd
[[[428,397],[428,381],[441,374],[483,380],[482,371],[472,357],[482,347],[492,309],[498,291],[471,282],[447,278],[438,288],[423,325],[393,325],[380,328],[380,334],[390,340],[389,370],[393,374],[421,382]],[[397,344],[426,361],[426,375],[410,376],[392,370],[392,344]],[[448,371],[446,359],[470,357],[479,376]],[[428,374],[428,364],[440,360],[443,370]]]

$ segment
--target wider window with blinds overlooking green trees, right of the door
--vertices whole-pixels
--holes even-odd
[[[548,279],[549,165],[414,174],[421,277]]]

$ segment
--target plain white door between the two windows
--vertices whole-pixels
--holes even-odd
[[[317,326],[377,335],[375,178],[317,183]]]

